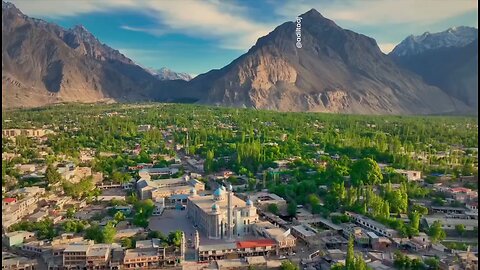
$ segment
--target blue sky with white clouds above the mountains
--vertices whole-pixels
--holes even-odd
[[[7,0],[8,1],[8,0]],[[478,28],[476,0],[10,0],[24,14],[83,25],[137,64],[193,76],[219,69],[259,37],[311,8],[374,38],[384,53],[404,38]]]

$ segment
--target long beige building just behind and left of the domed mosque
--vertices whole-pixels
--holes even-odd
[[[137,191],[142,200],[152,199],[158,201],[162,198],[168,198],[175,194],[190,194],[195,189],[196,192],[205,190],[205,184],[191,179],[188,175],[179,178],[137,181]]]

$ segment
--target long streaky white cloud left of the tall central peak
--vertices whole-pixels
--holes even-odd
[[[247,9],[218,0],[156,1],[156,0],[12,0],[29,16],[68,17],[90,12],[109,12],[112,9],[138,10],[153,18],[158,25],[138,27],[123,25],[122,29],[152,35],[168,32],[214,39],[219,46],[246,50],[275,25],[266,25],[242,16]],[[54,7],[54,8],[53,8]]]

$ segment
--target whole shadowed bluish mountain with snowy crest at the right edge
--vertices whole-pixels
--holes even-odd
[[[478,30],[461,26],[427,36],[433,38],[406,38],[390,56],[428,84],[478,111]],[[415,46],[407,45],[412,40],[417,40]]]

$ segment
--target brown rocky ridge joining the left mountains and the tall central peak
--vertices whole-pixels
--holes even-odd
[[[343,29],[315,9],[301,17],[301,49],[295,47],[295,23],[285,22],[230,64],[187,82],[162,80],[83,26],[63,29],[2,1],[2,38],[9,37],[2,42],[2,88],[8,88],[2,108],[143,100],[359,114],[469,111],[399,68],[375,39]]]

